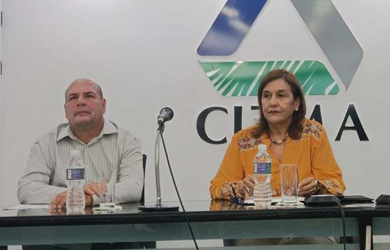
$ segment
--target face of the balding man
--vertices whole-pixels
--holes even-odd
[[[65,116],[71,126],[100,125],[106,112],[106,100],[89,81],[72,83],[66,92]]]

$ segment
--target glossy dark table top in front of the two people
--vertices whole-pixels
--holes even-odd
[[[179,202],[163,202],[179,206]],[[153,202],[148,205],[154,204]],[[66,210],[22,209],[0,211],[0,227],[4,226],[61,226],[88,224],[142,224],[185,222],[184,213],[141,212],[139,203],[120,204],[123,209],[111,213],[94,212],[91,207],[85,214],[66,214]],[[390,206],[376,206],[374,203],[344,204],[346,217],[390,217]],[[254,219],[314,219],[338,218],[338,207],[273,207],[254,209],[228,201],[186,201],[184,208],[190,222],[219,222]]]

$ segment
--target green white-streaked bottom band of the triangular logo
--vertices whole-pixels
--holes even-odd
[[[256,96],[264,76],[274,69],[286,68],[296,75],[305,95],[336,95],[339,86],[319,61],[199,61],[214,88],[224,96]]]

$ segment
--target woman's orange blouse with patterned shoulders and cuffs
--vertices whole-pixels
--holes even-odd
[[[253,175],[253,159],[257,153],[257,145],[267,145],[267,152],[271,156],[271,189],[280,194],[279,165],[296,164],[298,181],[314,177],[319,180],[321,193],[342,194],[345,185],[341,170],[334,159],[331,145],[324,127],[313,120],[304,120],[304,129],[301,138],[286,140],[283,160],[279,162],[269,149],[271,140],[266,134],[259,139],[251,136],[254,126],[237,132],[226,150],[224,160],[213,180],[211,180],[211,199],[230,199],[236,193],[237,197],[244,197],[239,192],[242,180],[246,175]]]

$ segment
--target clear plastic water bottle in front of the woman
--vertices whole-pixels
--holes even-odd
[[[271,207],[271,157],[266,152],[266,145],[259,145],[259,152],[254,157],[254,204],[260,209]]]

